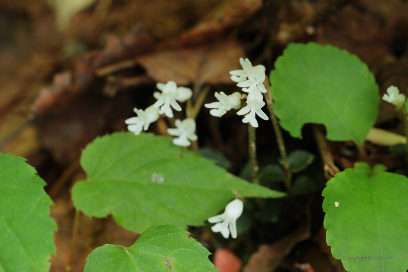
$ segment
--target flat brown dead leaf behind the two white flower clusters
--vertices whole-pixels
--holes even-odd
[[[232,84],[229,71],[239,69],[242,47],[234,41],[188,49],[157,51],[136,59],[156,82],[174,81],[177,85],[201,86]]]

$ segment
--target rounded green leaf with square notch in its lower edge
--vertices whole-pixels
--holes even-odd
[[[367,65],[345,50],[292,43],[271,72],[274,110],[281,126],[301,137],[302,126],[326,126],[327,139],[357,144],[378,114],[378,86]]]

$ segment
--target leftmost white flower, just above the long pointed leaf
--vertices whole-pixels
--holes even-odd
[[[134,108],[133,111],[137,114],[137,117],[132,117],[125,120],[128,124],[128,130],[139,135],[142,130],[148,130],[149,125],[157,119],[159,119],[159,109],[151,105],[146,110],[138,110]]]

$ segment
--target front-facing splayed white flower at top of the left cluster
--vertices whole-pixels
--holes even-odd
[[[176,111],[181,111],[180,105],[177,103],[176,98],[180,95],[177,90],[177,85],[174,81],[169,81],[166,84],[157,83],[156,87],[162,91],[154,92],[153,96],[157,101],[153,104],[155,108],[160,107],[159,114],[165,114],[167,117],[173,117],[173,107]],[[170,107],[171,106],[171,107]]]

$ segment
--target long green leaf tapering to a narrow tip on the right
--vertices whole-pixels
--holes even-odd
[[[242,197],[285,196],[153,134],[98,138],[85,148],[81,165],[87,181],[72,188],[75,207],[88,216],[112,214],[118,224],[138,233],[154,224],[203,225],[236,192]]]

